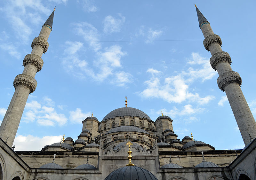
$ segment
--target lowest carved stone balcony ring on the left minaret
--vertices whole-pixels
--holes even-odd
[[[13,86],[16,88],[19,85],[23,85],[29,88],[30,94],[36,90],[37,82],[36,80],[27,74],[19,74],[15,77],[13,81]]]

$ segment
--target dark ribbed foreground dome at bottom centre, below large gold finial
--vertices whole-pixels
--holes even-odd
[[[118,168],[110,173],[105,180],[118,179],[118,180],[133,180],[133,179],[147,179],[157,180],[151,172],[137,166],[125,166]]]

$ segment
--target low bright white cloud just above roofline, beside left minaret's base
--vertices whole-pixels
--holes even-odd
[[[62,135],[37,137],[33,135],[15,137],[13,145],[15,151],[40,151],[45,145],[60,142]]]

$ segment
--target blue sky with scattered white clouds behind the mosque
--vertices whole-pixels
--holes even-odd
[[[45,20],[56,6],[44,66],[36,74],[20,121],[15,150],[40,151],[77,139],[92,112],[99,121],[128,106],[155,121],[163,111],[181,140],[190,136],[219,149],[244,143],[226,94],[217,85],[192,1],[9,0],[0,3],[0,118],[13,80],[23,71]],[[222,39],[231,67],[256,115],[255,1],[196,1]]]

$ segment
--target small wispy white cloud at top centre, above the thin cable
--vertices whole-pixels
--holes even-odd
[[[121,27],[123,26],[125,22],[125,17],[121,14],[118,14],[120,18],[114,18],[113,16],[106,16],[103,20],[104,33],[110,34],[114,32],[120,32]]]

